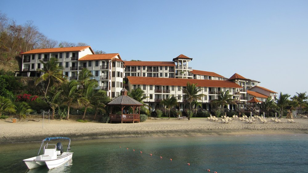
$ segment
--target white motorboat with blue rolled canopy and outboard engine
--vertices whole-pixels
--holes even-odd
[[[57,144],[50,144],[49,141],[52,140],[68,140],[67,151],[63,152],[63,145],[61,142]],[[47,144],[45,144],[47,142]],[[43,154],[40,152],[43,148]],[[29,169],[46,165],[48,169],[58,167],[64,163],[67,163],[72,157],[73,152],[71,151],[71,139],[66,137],[49,137],[42,141],[39,153],[37,156],[31,157],[29,159],[24,159],[24,161]]]

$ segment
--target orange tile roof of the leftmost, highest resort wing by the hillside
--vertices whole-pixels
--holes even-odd
[[[90,46],[78,46],[78,47],[56,47],[56,48],[48,48],[48,49],[32,49],[27,52],[23,52],[21,54],[37,54],[37,53],[53,53],[53,52],[75,52],[81,51],[84,49],[90,48],[91,52],[94,54],[94,51]]]

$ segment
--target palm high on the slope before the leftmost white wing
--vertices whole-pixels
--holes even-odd
[[[63,67],[59,66],[59,62],[57,58],[50,58],[49,61],[43,62],[40,60],[40,62],[43,64],[43,69],[38,69],[39,72],[42,72],[43,75],[41,75],[36,81],[35,85],[38,85],[39,83],[48,80],[46,91],[44,92],[44,97],[47,95],[47,90],[51,82],[57,81],[57,82],[63,82]]]

